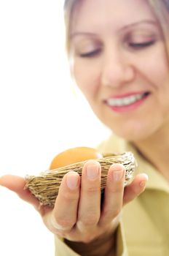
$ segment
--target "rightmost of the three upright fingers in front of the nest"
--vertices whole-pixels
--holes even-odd
[[[121,211],[124,184],[125,167],[121,164],[111,165],[106,181],[100,225],[109,224]]]

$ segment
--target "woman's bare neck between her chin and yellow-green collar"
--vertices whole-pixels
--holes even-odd
[[[169,181],[168,129],[156,132],[150,138],[133,143],[140,153]]]

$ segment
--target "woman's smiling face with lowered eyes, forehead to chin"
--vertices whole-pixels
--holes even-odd
[[[168,123],[168,61],[147,1],[83,0],[71,23],[72,72],[106,126],[128,140]]]

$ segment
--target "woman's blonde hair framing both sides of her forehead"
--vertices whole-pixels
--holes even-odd
[[[74,11],[74,7],[76,6],[76,4],[79,4],[80,1],[82,0],[65,0],[64,4],[64,18],[66,25],[66,50],[68,55],[70,53],[69,32],[71,28],[72,12]],[[162,30],[162,35],[165,42],[165,48],[168,53],[169,59],[169,0],[147,0],[147,2],[160,24],[160,28]]]

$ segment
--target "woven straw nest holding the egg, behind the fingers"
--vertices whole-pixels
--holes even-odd
[[[109,167],[113,163],[120,163],[125,166],[125,186],[130,182],[136,167],[136,162],[131,152],[123,154],[105,154],[103,158],[96,159],[101,164],[101,191],[106,186],[106,177]],[[58,189],[63,176],[69,171],[75,171],[82,175],[82,167],[84,162],[77,162],[73,165],[67,165],[55,170],[47,170],[39,173],[38,176],[26,176],[25,189],[29,189],[31,193],[39,200],[42,205],[53,207],[55,199],[58,196]]]

